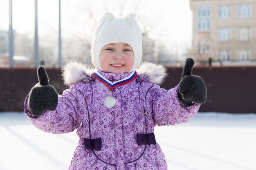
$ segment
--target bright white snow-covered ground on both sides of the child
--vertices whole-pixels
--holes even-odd
[[[169,170],[256,170],[256,114],[198,113],[155,128]],[[67,170],[76,132],[54,135],[24,113],[0,113],[0,170]]]

